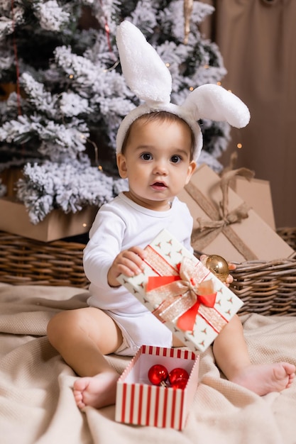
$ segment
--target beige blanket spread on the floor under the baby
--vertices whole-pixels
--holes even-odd
[[[128,426],[114,406],[85,413],[72,395],[75,374],[48,343],[57,311],[85,306],[87,292],[0,283],[1,444],[295,444],[296,382],[260,397],[219,374],[212,350],[201,356],[199,387],[185,430]],[[253,362],[296,364],[296,318],[243,317]],[[121,372],[129,362],[109,357]]]

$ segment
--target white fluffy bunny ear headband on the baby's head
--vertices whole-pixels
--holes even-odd
[[[204,84],[190,92],[181,106],[170,103],[172,77],[155,49],[131,22],[123,21],[117,28],[121,68],[128,87],[144,101],[124,118],[116,137],[116,153],[121,152],[131,124],[140,116],[155,111],[168,111],[182,118],[195,136],[194,160],[202,150],[202,131],[197,121],[207,118],[227,121],[242,128],[248,124],[248,107],[239,97],[216,84]]]

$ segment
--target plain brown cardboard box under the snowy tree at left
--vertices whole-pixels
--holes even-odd
[[[87,233],[97,213],[97,207],[88,206],[77,213],[65,214],[60,209],[51,211],[44,220],[31,223],[25,206],[9,197],[0,199],[0,230],[25,238],[50,242]]]

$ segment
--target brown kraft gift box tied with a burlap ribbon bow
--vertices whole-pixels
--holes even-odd
[[[229,184],[222,184],[219,175],[207,165],[197,169],[179,198],[192,213],[192,245],[199,252],[221,255],[233,262],[295,255],[268,223],[248,209],[243,199],[229,189]]]

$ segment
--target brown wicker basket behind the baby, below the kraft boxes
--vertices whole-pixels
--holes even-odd
[[[296,250],[296,228],[278,234]],[[0,231],[0,282],[85,289],[83,249],[80,243],[43,243]],[[243,262],[231,274],[231,289],[244,302],[240,314],[296,315],[296,259]]]

